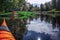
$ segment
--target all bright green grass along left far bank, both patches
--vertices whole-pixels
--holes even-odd
[[[29,16],[34,16],[34,12],[28,12],[28,11],[16,11],[16,13],[19,15],[19,18],[28,18]],[[5,14],[5,15],[10,15],[11,12],[7,13],[0,13],[0,14]]]

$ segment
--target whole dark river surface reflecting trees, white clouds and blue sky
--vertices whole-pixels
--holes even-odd
[[[0,26],[3,19],[0,18]],[[51,17],[41,14],[28,20],[8,18],[6,22],[16,40],[60,40],[60,16]]]

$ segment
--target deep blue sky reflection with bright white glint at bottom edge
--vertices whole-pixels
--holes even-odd
[[[51,37],[45,33],[37,33],[35,31],[28,31],[26,35],[24,35],[23,40],[51,40]]]

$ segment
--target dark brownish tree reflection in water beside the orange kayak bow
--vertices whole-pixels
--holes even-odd
[[[4,18],[3,17],[0,18],[0,26],[2,25]],[[14,19],[13,20],[10,18],[5,18],[5,20],[7,23],[7,27],[9,28],[10,32],[13,34],[15,39],[22,40],[23,34],[27,30],[26,29],[26,19]]]

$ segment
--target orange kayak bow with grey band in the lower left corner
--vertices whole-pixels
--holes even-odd
[[[0,40],[15,40],[12,33],[7,27],[5,19],[0,27]]]

